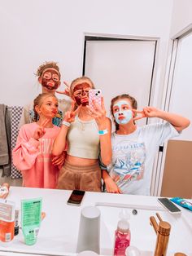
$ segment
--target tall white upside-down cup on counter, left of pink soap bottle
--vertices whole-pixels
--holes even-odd
[[[100,254],[100,210],[95,206],[86,206],[81,210],[76,252],[84,250]]]

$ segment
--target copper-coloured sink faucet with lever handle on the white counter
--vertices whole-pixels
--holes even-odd
[[[159,225],[155,220],[155,217],[150,217],[151,225],[154,227],[157,234],[157,240],[155,245],[155,256],[165,256],[168,248],[168,238],[171,230],[171,225],[162,220],[159,214],[156,214],[159,218]]]

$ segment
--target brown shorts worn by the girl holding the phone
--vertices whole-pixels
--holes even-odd
[[[92,166],[73,166],[65,161],[59,171],[57,188],[101,192],[102,174],[98,163]]]

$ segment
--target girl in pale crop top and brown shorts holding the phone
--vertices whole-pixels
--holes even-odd
[[[60,189],[101,191],[98,155],[104,165],[111,162],[111,120],[106,117],[103,99],[101,106],[89,108],[90,89],[94,89],[94,83],[89,77],[76,78],[70,86],[74,102],[65,114],[52,151],[58,156],[68,145],[66,161],[59,172]]]

